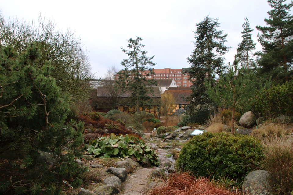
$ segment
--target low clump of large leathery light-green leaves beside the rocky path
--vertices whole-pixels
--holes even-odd
[[[148,158],[153,165],[159,164],[158,154],[145,144],[145,141],[138,135],[119,135],[114,133],[107,134],[89,142],[88,153],[100,158],[111,156],[120,156],[123,158],[131,157],[135,161],[146,163]]]

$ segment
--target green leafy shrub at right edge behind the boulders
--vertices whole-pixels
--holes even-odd
[[[254,113],[267,118],[293,116],[293,80],[269,88],[255,101]]]

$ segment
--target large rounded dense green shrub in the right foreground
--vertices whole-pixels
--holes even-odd
[[[205,132],[183,146],[176,167],[197,176],[215,179],[227,176],[241,183],[253,171],[252,165],[257,165],[263,157],[261,143],[255,137]]]

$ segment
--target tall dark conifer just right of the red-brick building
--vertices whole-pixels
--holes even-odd
[[[190,105],[187,108],[191,115],[195,115],[198,110],[209,112],[213,102],[206,94],[206,87],[203,85],[205,79],[212,80],[212,72],[220,73],[223,69],[223,55],[230,49],[225,46],[228,34],[223,34],[223,30],[218,30],[220,23],[218,19],[208,16],[198,23],[195,34],[195,50],[189,58],[188,63],[191,68],[186,69],[190,78],[194,78],[194,87],[190,98]],[[206,116],[209,113],[205,114]]]

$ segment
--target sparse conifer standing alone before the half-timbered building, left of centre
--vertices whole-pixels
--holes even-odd
[[[125,68],[118,73],[118,83],[126,91],[131,91],[131,96],[128,98],[128,102],[131,107],[136,107],[137,113],[139,113],[139,107],[149,107],[152,105],[152,100],[148,94],[153,93],[153,89],[148,86],[154,85],[155,80],[147,79],[147,77],[154,74],[151,66],[156,65],[151,61],[154,56],[147,57],[147,51],[141,50],[144,45],[142,45],[140,41],[142,41],[140,37],[136,37],[135,40],[130,38],[127,46],[129,50],[121,48],[129,58],[123,59],[121,65]],[[146,72],[146,74],[142,75],[142,72]]]

